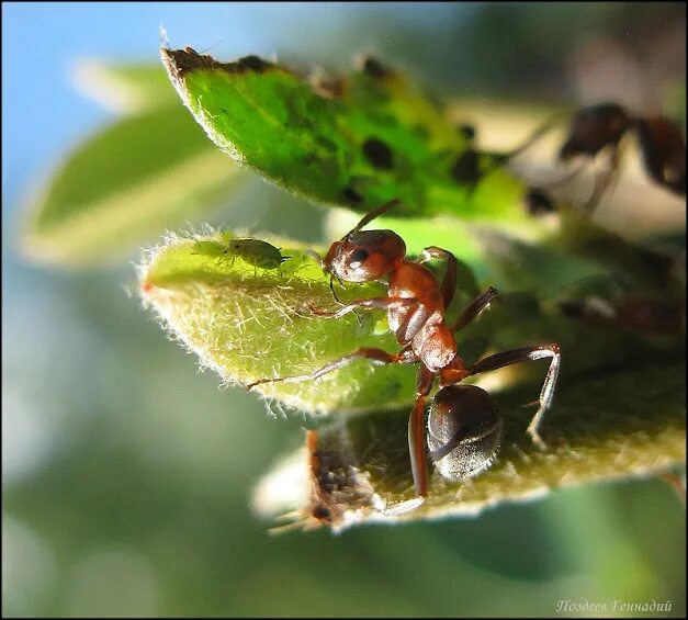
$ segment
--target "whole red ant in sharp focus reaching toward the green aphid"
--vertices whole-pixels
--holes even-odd
[[[316,316],[331,318],[341,317],[357,308],[386,309],[390,328],[402,350],[392,354],[382,349],[362,347],[311,374],[261,379],[246,387],[251,390],[258,384],[277,381],[315,380],[360,358],[374,364],[420,363],[416,401],[408,420],[408,450],[416,494],[424,498],[428,494],[425,399],[432,390],[436,376],[439,375],[440,391],[432,401],[428,424],[430,456],[443,475],[467,477],[477,474],[492,462],[499,444],[501,419],[487,392],[474,385],[456,384],[467,376],[516,362],[551,358],[540,392],[540,407],[528,427],[532,440],[542,448],[544,443],[538,435],[538,426],[552,403],[561,356],[557,345],[548,343],[504,351],[466,367],[456,353],[454,334],[475,319],[494,300],[497,291],[490,286],[469,304],[452,325],[447,325],[445,312],[456,288],[455,257],[447,250],[430,246],[422,250],[419,262],[413,262],[405,258],[404,240],[392,230],[361,230],[398,202],[398,199],[392,200],[363,216],[341,240],[331,245],[322,261],[326,273],[345,282],[372,282],[387,277],[387,296],[354,301],[337,312],[313,306],[309,309]],[[429,259],[447,261],[441,284],[421,264]]]

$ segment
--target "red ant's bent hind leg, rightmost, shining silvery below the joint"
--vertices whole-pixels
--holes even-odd
[[[508,367],[517,362],[541,360],[543,358],[552,358],[552,361],[550,362],[550,368],[544,377],[542,390],[540,391],[540,407],[535,412],[530,425],[528,425],[528,435],[530,435],[533,443],[541,449],[546,448],[546,446],[538,433],[538,426],[542,420],[544,412],[546,412],[552,405],[552,398],[554,397],[554,387],[556,385],[556,377],[559,375],[559,369],[562,360],[559,345],[552,342],[550,345],[539,345],[537,347],[523,347],[522,349],[503,351],[484,358],[466,369],[469,372],[467,376],[470,376],[488,370],[497,370],[499,368]]]

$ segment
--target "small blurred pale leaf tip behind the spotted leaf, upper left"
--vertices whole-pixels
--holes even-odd
[[[72,80],[84,94],[114,112],[140,112],[177,101],[165,70],[157,65],[80,60]]]

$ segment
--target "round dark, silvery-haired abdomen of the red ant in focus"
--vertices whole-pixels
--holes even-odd
[[[493,397],[475,385],[442,387],[430,406],[428,447],[449,480],[474,476],[488,467],[501,439],[501,416]]]

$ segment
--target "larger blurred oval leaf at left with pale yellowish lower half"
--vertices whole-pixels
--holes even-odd
[[[247,178],[178,105],[125,117],[48,180],[24,250],[52,263],[111,263],[165,228],[207,216]]]

